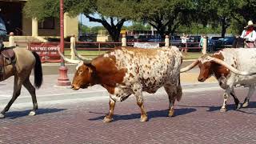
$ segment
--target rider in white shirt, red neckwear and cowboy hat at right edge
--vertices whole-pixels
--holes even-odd
[[[246,48],[256,47],[256,32],[254,30],[254,23],[252,21],[248,22],[248,25],[245,27],[245,30],[242,31],[240,38],[245,39]]]

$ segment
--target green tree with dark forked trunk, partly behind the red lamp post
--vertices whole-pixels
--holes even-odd
[[[58,0],[30,0],[26,2],[24,12],[27,17],[42,20],[46,17],[58,17]],[[132,15],[133,1],[129,0],[65,0],[64,11],[70,15],[85,14],[90,22],[102,23],[114,42],[119,39],[123,23]],[[98,14],[98,17],[94,17]]]

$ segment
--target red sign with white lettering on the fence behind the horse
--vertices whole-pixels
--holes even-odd
[[[49,42],[30,42],[28,49],[37,52],[41,58],[41,62],[61,62],[61,57],[58,54],[59,43]]]

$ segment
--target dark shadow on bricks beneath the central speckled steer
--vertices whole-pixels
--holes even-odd
[[[193,109],[193,108],[175,109],[174,116],[189,114],[194,111],[196,111],[196,109]],[[154,111],[147,112],[147,115],[150,120],[150,118],[168,117],[168,112],[169,112],[169,110],[154,110]],[[90,111],[90,113],[103,114],[103,113],[91,112],[91,111]],[[105,117],[105,115],[100,116],[98,118],[90,118],[89,120],[90,121],[103,120],[104,117]],[[141,114],[127,114],[127,115],[114,114],[114,116],[113,116],[114,122],[119,121],[119,120],[129,120],[129,119],[139,119],[139,118],[141,118]]]

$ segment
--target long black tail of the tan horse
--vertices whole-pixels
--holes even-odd
[[[42,85],[42,63],[41,63],[39,55],[35,51],[32,51],[32,53],[34,54],[34,58],[35,58],[34,87],[36,89],[39,89],[40,86]]]

